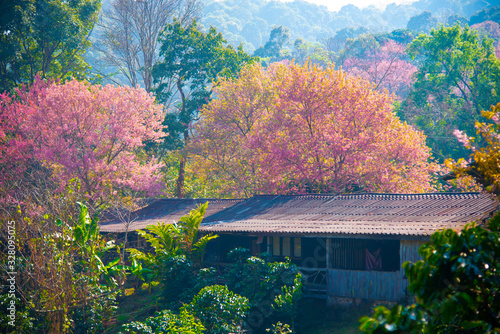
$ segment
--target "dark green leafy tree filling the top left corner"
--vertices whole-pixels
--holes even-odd
[[[0,4],[0,92],[35,77],[84,78],[85,49],[101,0],[14,0]]]

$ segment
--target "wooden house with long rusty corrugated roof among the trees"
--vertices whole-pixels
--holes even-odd
[[[176,221],[204,201],[160,200],[136,213],[132,229]],[[260,195],[211,200],[200,231],[219,235],[208,244],[209,262],[224,263],[229,250],[245,247],[288,257],[307,293],[329,303],[400,301],[408,297],[402,264],[417,261],[435,231],[481,224],[498,208],[485,193]]]

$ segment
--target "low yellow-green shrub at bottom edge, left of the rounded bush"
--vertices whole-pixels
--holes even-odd
[[[188,313],[181,310],[180,314],[174,314],[170,310],[158,312],[154,317],[149,317],[144,322],[134,321],[122,326],[123,333],[134,334],[202,334],[205,328],[201,322]]]

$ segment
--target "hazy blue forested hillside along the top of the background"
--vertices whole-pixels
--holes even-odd
[[[252,53],[266,43],[274,26],[288,28],[290,41],[323,42],[347,27],[365,27],[370,32],[405,29],[412,17],[424,11],[432,13],[435,24],[468,21],[475,12],[496,4],[495,0],[420,0],[410,5],[393,3],[383,11],[350,4],[332,12],[303,0],[225,0],[207,2],[201,22],[216,27],[231,44],[242,43],[245,51]]]

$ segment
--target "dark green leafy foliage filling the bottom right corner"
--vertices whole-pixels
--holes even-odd
[[[417,303],[378,307],[364,317],[368,333],[498,333],[500,331],[500,215],[487,224],[432,235],[423,257],[403,267]]]

